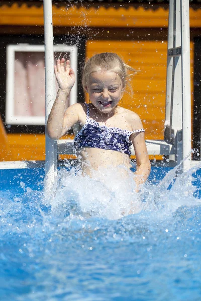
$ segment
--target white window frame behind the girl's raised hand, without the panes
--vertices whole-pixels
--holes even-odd
[[[16,116],[14,114],[14,87],[15,87],[15,53],[16,52],[45,52],[44,45],[17,44],[7,46],[7,76],[6,76],[6,123],[22,125],[45,125],[44,116]],[[77,47],[58,44],[54,46],[54,52],[70,53],[70,66],[75,72],[77,79]],[[54,66],[52,66],[54,68]],[[55,91],[56,96],[56,91]],[[70,105],[77,102],[77,81],[70,92]]]

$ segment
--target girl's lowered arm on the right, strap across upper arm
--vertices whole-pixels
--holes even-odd
[[[143,128],[142,122],[138,115],[135,116],[135,129]],[[139,190],[139,186],[146,182],[147,178],[149,177],[151,171],[151,164],[149,161],[149,156],[147,152],[147,147],[145,144],[145,137],[144,132],[133,133],[131,135],[131,140],[133,142],[133,146],[135,149],[136,155],[136,162],[137,162],[137,169],[135,172],[135,182],[137,185],[137,191]]]

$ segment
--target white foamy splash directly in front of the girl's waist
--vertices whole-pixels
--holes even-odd
[[[60,205],[71,206],[76,203],[75,214],[108,219],[118,219],[131,211],[141,210],[132,172],[126,178],[122,176],[122,167],[99,169],[93,172],[92,177],[83,177],[79,172],[74,173],[74,170],[60,170],[59,187],[50,202],[52,210]]]

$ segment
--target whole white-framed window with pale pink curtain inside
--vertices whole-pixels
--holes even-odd
[[[7,45],[6,123],[8,125],[45,124],[44,51],[44,45]],[[70,59],[77,78],[77,47],[55,45],[55,63],[59,57]],[[55,95],[57,89],[55,80]],[[77,81],[70,94],[70,104],[76,101]]]

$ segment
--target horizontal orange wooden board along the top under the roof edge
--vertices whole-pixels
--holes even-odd
[[[167,5],[157,4],[153,8],[146,4],[105,8],[74,5],[62,7],[52,6],[54,26],[65,27],[147,27],[165,28],[168,26]],[[190,27],[201,27],[201,10],[190,8]],[[19,6],[2,5],[0,7],[1,25],[43,26],[43,6],[28,6],[26,3]]]

